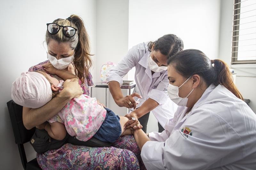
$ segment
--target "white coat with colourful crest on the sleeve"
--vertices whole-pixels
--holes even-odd
[[[149,169],[256,169],[256,115],[222,85],[210,85],[187,114],[178,107],[141,150]],[[183,133],[185,132],[185,133]]]

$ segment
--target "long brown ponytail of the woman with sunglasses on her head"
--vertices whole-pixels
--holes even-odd
[[[76,76],[84,83],[84,80],[89,74],[89,69],[92,66],[90,57],[89,36],[84,27],[84,21],[77,15],[71,15],[70,18],[78,29],[78,43],[75,49],[74,67]]]

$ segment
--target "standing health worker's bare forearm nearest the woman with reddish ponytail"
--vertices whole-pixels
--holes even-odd
[[[153,100],[153,99],[148,99],[146,100],[138,109],[136,109],[134,112],[138,116],[138,118],[142,117],[143,115],[147,114],[154,108],[156,108],[159,104]]]

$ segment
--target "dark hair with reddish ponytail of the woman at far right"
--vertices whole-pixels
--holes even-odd
[[[242,94],[232,80],[228,65],[219,59],[210,60],[202,51],[187,49],[170,57],[167,63],[172,64],[185,78],[198,74],[208,86],[223,85],[237,98],[243,100]]]

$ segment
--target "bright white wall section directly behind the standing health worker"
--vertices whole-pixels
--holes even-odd
[[[219,27],[219,0],[129,1],[129,48],[172,33],[183,40],[184,49],[199,49],[213,59],[218,57]],[[133,78],[134,70],[128,74]],[[157,130],[150,114],[148,132]]]

